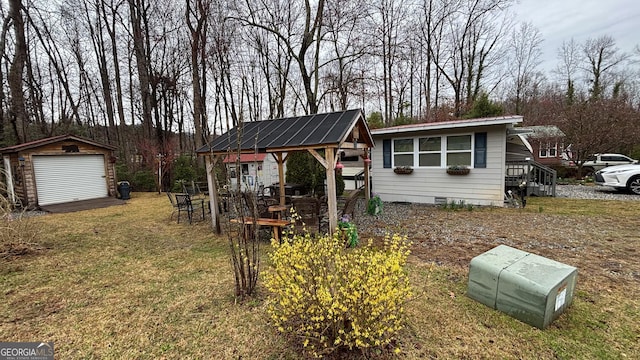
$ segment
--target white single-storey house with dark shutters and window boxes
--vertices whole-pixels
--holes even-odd
[[[522,116],[372,130],[372,187],[383,201],[503,206],[507,135]],[[469,171],[448,171],[466,165]]]

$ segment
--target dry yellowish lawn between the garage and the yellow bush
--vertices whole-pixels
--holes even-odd
[[[233,304],[226,239],[170,211],[164,195],[135,194],[125,206],[33,219],[48,249],[2,264],[0,338],[54,341],[60,358],[277,349],[262,300]]]

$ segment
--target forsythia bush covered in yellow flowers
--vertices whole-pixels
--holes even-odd
[[[269,315],[280,332],[301,338],[313,355],[384,347],[403,328],[411,296],[406,237],[387,236],[381,248],[369,241],[346,249],[337,232],[272,245]]]

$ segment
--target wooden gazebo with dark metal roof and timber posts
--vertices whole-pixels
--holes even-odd
[[[218,189],[213,174],[213,165],[228,154],[270,153],[278,164],[280,203],[285,203],[283,164],[285,153],[308,151],[326,169],[327,201],[329,207],[329,229],[338,225],[335,169],[339,159],[338,149],[362,149],[363,157],[374,147],[373,138],[364,113],[360,109],[313,114],[256,122],[246,122],[217,137],[197,150],[205,156],[209,186],[211,214],[214,228],[220,232],[218,213]],[[324,150],[324,156],[321,151]],[[364,162],[364,186],[367,199],[371,193],[369,166]]]

